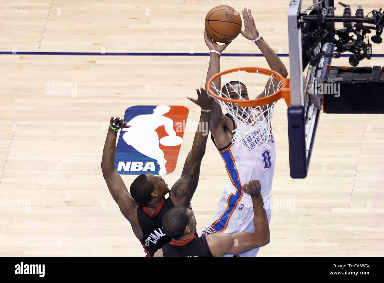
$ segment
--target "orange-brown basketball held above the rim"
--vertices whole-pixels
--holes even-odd
[[[210,10],[205,17],[205,31],[216,42],[230,42],[241,30],[240,14],[227,5],[220,5]]]

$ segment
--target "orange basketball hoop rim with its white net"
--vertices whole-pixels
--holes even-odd
[[[256,74],[254,87],[248,83],[247,74]],[[217,78],[223,80],[223,89],[215,87],[214,80]],[[252,92],[252,99],[242,97],[244,86],[249,98],[249,92]],[[250,151],[256,148],[261,150],[264,146],[270,147],[268,142],[273,141],[270,127],[275,104],[281,98],[285,99],[287,106],[291,103],[290,79],[265,68],[240,67],[225,70],[208,81],[207,90],[235,121],[232,143],[237,142],[237,146],[245,145],[243,149]],[[231,99],[229,93],[237,94],[239,99]]]

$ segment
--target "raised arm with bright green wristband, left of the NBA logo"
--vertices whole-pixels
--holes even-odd
[[[136,216],[139,204],[132,198],[131,194],[128,193],[127,187],[115,169],[116,138],[118,131],[114,131],[111,128],[122,129],[131,126],[127,125],[127,122],[124,122],[124,119],[120,120],[119,117],[116,119],[112,117],[110,123],[105,139],[103,157],[101,159],[101,171],[103,171],[103,177],[107,183],[112,198],[119,205],[120,211],[124,217],[131,223],[134,234],[137,238],[141,239],[142,231]]]

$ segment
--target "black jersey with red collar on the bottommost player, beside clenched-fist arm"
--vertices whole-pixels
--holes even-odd
[[[162,247],[163,256],[214,256],[207,243],[207,238],[192,236],[185,241],[171,241]]]

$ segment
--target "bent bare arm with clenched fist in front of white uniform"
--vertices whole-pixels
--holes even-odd
[[[237,232],[233,234],[214,233],[207,236],[207,243],[214,256],[238,255],[269,243],[270,232],[268,218],[263,208],[259,180],[243,185],[245,193],[250,194],[253,202],[253,224],[255,232]]]

